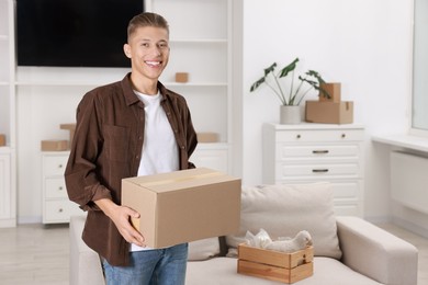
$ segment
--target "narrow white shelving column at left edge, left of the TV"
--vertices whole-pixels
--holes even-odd
[[[15,187],[15,92],[14,92],[14,5],[0,0],[0,228],[16,225]]]

